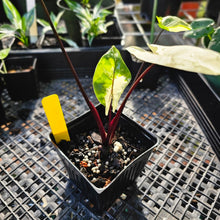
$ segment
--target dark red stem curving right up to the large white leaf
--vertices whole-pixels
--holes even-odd
[[[116,130],[116,127],[118,125],[118,121],[120,119],[120,116],[122,114],[122,111],[125,107],[125,104],[126,104],[128,98],[130,97],[131,93],[133,92],[133,90],[135,89],[137,84],[140,82],[140,80],[151,70],[151,68],[153,66],[154,66],[154,64],[151,64],[146,70],[144,70],[144,72],[137,78],[137,80],[133,83],[133,85],[128,90],[128,92],[127,92],[120,108],[118,109],[115,117],[112,119],[112,121],[109,125],[109,130],[108,130],[108,134],[107,134],[107,143],[108,143],[108,145],[111,144],[111,142],[112,142],[112,138],[114,137],[115,130]]]

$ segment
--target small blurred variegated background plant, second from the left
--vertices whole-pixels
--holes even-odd
[[[66,33],[65,27],[60,25],[60,21],[63,16],[63,13],[64,13],[64,11],[60,11],[56,16],[53,12],[51,12],[50,19],[51,19],[57,33],[59,34],[60,39],[65,41],[69,46],[74,47],[74,48],[78,48],[78,45],[76,44],[76,42],[62,36],[62,34]],[[45,34],[52,31],[50,23],[45,21],[44,19],[37,19],[37,22],[43,27],[42,32],[41,32],[41,39],[44,39]]]

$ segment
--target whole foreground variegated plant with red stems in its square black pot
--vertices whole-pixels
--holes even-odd
[[[41,2],[44,5],[43,0]],[[46,7],[45,10],[47,12]],[[47,14],[49,15],[48,12]],[[49,16],[48,19],[50,19]],[[105,109],[100,105],[94,107],[80,83],[62,41],[55,28],[52,27],[52,29],[90,111],[70,122],[67,125],[68,132],[66,130],[52,132],[51,139],[66,165],[70,178],[91,200],[97,211],[102,212],[128,184],[135,180],[144,167],[149,150],[157,144],[157,138],[122,114],[138,82],[154,67],[154,64],[205,74],[220,74],[220,55],[193,46],[149,45],[151,52],[137,47],[128,48],[127,50],[137,59],[154,64],[137,75],[117,112],[113,113],[131,79],[131,74],[119,51],[113,46],[97,64],[93,76],[93,87],[97,99]],[[204,59],[204,53],[208,54],[212,66],[209,65],[208,60]],[[194,56],[189,57],[189,54]],[[215,59],[211,59],[213,57]],[[198,65],[197,61],[200,60],[204,62]],[[50,99],[47,98],[43,100],[43,106]],[[53,108],[51,103],[49,108]],[[49,118],[49,115],[47,117]],[[132,128],[131,131],[129,131],[130,128]],[[62,136],[64,133],[65,138]],[[136,135],[138,138],[135,137]],[[131,140],[131,143],[128,143],[128,140]],[[129,150],[128,146],[133,150]],[[148,148],[147,151],[145,151],[146,148]]]

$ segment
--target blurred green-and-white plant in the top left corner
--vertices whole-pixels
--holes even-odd
[[[20,15],[17,8],[9,1],[2,0],[4,12],[11,24],[3,24],[0,26],[0,39],[5,37],[15,37],[22,42],[25,47],[29,46],[29,30],[34,22],[34,8]]]

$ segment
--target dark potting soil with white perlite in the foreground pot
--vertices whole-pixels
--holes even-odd
[[[96,187],[107,186],[120,171],[143,151],[135,137],[116,131],[108,154],[103,150],[97,132],[77,135],[75,140],[61,141],[59,148]]]

